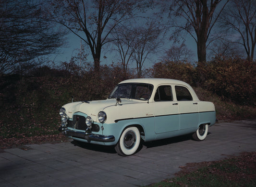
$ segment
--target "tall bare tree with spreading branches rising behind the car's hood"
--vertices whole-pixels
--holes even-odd
[[[52,20],[65,26],[90,48],[95,71],[99,70],[102,46],[113,29],[132,18],[143,0],[53,0]]]

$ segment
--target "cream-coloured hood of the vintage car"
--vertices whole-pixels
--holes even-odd
[[[125,105],[125,104],[133,104],[133,103],[140,103],[140,102],[147,102],[135,99],[121,99],[122,102],[117,105]],[[62,107],[66,109],[66,114],[69,118],[72,118],[73,113],[75,112],[82,112],[86,115],[93,118],[94,121],[97,120],[98,112],[103,111],[105,108],[108,107],[117,107],[116,99],[106,99],[106,100],[94,100],[94,101],[79,101],[73,102],[63,105]]]

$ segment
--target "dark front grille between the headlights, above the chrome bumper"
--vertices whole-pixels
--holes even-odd
[[[85,116],[73,115],[73,121],[68,120],[68,127],[71,127],[73,129],[77,129],[77,130],[85,131],[87,129],[87,125],[85,123]],[[99,125],[92,124],[91,131],[99,132]]]

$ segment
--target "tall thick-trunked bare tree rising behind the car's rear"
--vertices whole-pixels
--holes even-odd
[[[228,1],[169,0],[162,3],[165,11],[170,11],[171,26],[176,28],[172,39],[180,37],[181,31],[189,33],[197,45],[198,62],[206,62],[209,35]]]

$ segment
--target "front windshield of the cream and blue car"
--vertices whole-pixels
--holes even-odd
[[[111,98],[126,98],[148,100],[151,96],[153,85],[142,83],[119,84],[110,94]]]

